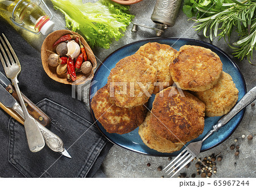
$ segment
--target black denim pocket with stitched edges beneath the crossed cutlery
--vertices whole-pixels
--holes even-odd
[[[52,152],[47,146],[37,153],[30,152],[23,127],[10,119],[10,163],[26,177],[86,177],[106,139],[92,122],[55,102],[45,99],[38,107],[51,118],[49,130],[60,136],[72,159]]]

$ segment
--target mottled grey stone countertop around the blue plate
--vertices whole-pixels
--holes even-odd
[[[96,0],[90,1],[95,2]],[[85,1],[88,2],[88,1]],[[143,0],[142,2],[136,3],[130,6],[131,14],[135,15],[134,22],[147,25],[148,27],[155,27],[155,24],[150,19],[152,10],[154,8],[156,0]],[[52,3],[49,0],[46,0],[47,5],[53,11],[53,21],[56,26],[54,30],[64,29],[64,15],[60,11],[56,11],[52,8]],[[183,14],[180,9],[179,15],[177,16],[176,24],[174,27],[168,28],[167,31],[162,35],[162,37],[178,37],[178,38],[187,38],[187,39],[196,39],[202,40],[205,42],[210,42],[208,38],[203,36],[203,33],[197,33],[195,31],[195,22],[188,20],[188,18]],[[119,41],[114,41],[110,46],[110,49],[100,49],[94,48],[93,52],[97,57],[97,63],[100,63],[114,50],[117,50],[123,45],[129,44],[134,41],[143,40],[155,37],[155,31],[151,29],[139,27],[137,33],[131,32],[132,24],[129,25],[125,36],[122,37]],[[31,39],[28,32],[24,32],[21,29],[18,29],[19,32],[26,39]],[[40,46],[44,40],[42,36],[36,36],[33,39],[28,40],[32,46],[40,50]],[[236,34],[232,36],[232,39],[237,38]],[[213,45],[216,45],[218,48],[222,49],[224,52],[230,55],[234,62],[237,63],[240,68],[246,82],[247,91],[256,86],[256,66],[250,65],[246,60],[238,61],[237,58],[234,58],[232,55],[232,50],[226,45],[223,39],[218,40],[214,39],[213,42],[210,42]],[[38,45],[41,44],[41,45]],[[254,63],[256,63],[256,57],[254,53]],[[256,110],[255,106],[247,106],[245,115],[237,127],[236,131],[221,143],[217,147],[209,149],[208,151],[200,153],[198,157],[202,159],[212,155],[212,153],[222,156],[221,161],[216,161],[217,173],[213,174],[212,177],[256,177],[256,167],[255,167],[255,138],[253,140],[247,140],[248,135],[255,136],[255,126],[256,126]],[[245,135],[245,138],[242,139],[241,136]],[[234,140],[238,141],[235,142]],[[240,146],[239,156],[234,156],[236,149],[231,150],[230,146],[232,144],[237,144]],[[150,163],[150,166],[147,164]],[[110,149],[108,156],[102,164],[102,170],[106,174],[106,177],[168,177],[163,171],[158,171],[159,166],[166,166],[170,161],[168,157],[154,157],[146,156],[139,153],[131,152],[126,149],[123,149],[118,146],[113,146]],[[195,161],[191,162],[189,168],[184,168],[180,172],[186,173],[187,177],[191,177],[193,173],[196,173]],[[179,174],[177,174],[179,175]],[[177,176],[176,176],[177,177]],[[200,175],[196,175],[200,177]]]

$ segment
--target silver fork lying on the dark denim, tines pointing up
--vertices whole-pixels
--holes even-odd
[[[19,59],[17,58],[13,48],[10,45],[10,42],[6,39],[5,35],[3,35],[3,38],[5,39],[5,41],[0,36],[0,40],[2,41],[2,44],[3,44],[3,46],[2,46],[0,43],[0,49],[2,51],[3,57],[5,57],[5,60],[4,60],[0,53],[0,59],[3,64],[3,69],[5,70],[5,74],[6,74],[7,78],[11,79],[11,82],[13,83],[13,85],[16,89],[16,93],[18,94],[20,105],[22,106],[22,110],[24,113],[24,128],[26,131],[28,147],[30,148],[31,152],[38,152],[44,147],[44,138],[38,128],[38,125],[36,124],[35,119],[32,118],[30,116],[30,114],[28,113],[26,105],[24,103],[24,100],[23,100],[22,95],[19,90],[19,86],[18,86],[19,82],[17,79],[17,76],[19,75],[19,73],[21,71]],[[7,48],[6,44],[9,48]],[[3,47],[5,48],[5,50],[3,49]],[[9,49],[10,49],[11,53],[10,53]],[[8,54],[10,61],[7,58],[5,51]],[[11,54],[13,55],[13,57]],[[15,59],[15,61],[13,58]]]

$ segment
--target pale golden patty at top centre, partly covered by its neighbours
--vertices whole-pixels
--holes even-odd
[[[169,71],[169,65],[176,53],[177,50],[171,48],[171,46],[159,44],[158,42],[148,42],[141,46],[135,53],[148,58],[151,61],[151,65],[155,67],[156,71],[158,71],[158,84],[154,88],[154,94],[174,83]],[[159,87],[159,84],[161,83],[163,83],[163,85],[162,87]]]

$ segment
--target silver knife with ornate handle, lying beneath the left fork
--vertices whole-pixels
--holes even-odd
[[[11,94],[6,91],[6,89],[0,84],[0,102],[5,105],[7,108],[11,108],[15,110],[22,118],[24,118],[23,110],[19,103],[14,99]],[[72,158],[67,150],[63,147],[63,141],[59,138],[59,136],[53,134],[51,131],[46,129],[43,125],[41,125],[38,121],[36,121],[39,130],[43,134],[43,138],[47,144],[47,146],[52,149],[52,151],[59,152],[62,155]]]

